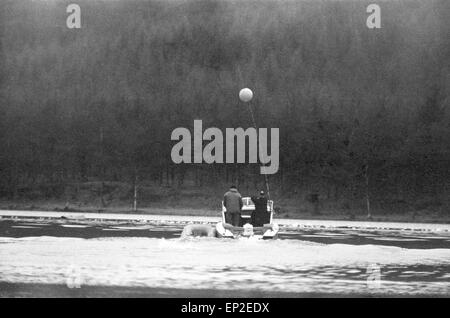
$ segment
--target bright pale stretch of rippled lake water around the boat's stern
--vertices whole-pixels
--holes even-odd
[[[172,226],[116,226],[118,231],[128,231],[129,235],[122,236],[117,236],[120,233],[116,231],[103,231],[114,226],[97,229],[108,234],[96,236],[87,228],[65,228],[76,233],[89,232],[90,238],[86,239],[80,235],[18,236],[14,235],[16,231],[30,229],[12,226],[26,225],[14,223],[0,229],[0,281],[3,282],[67,284],[76,278],[81,284],[102,286],[450,294],[450,249],[445,235],[421,233],[417,235],[420,237],[414,237],[411,233],[372,232],[366,237],[361,233],[337,231],[286,231],[281,235],[285,239],[275,241],[180,240],[176,237],[181,228]],[[50,227],[45,227],[47,232],[51,232]],[[302,234],[307,237],[301,239]],[[353,237],[354,244],[349,237]],[[371,244],[365,244],[369,238]],[[402,247],[405,242],[411,244],[411,240],[419,245]],[[434,245],[428,248],[423,244]],[[369,266],[380,268],[378,285],[367,283]]]

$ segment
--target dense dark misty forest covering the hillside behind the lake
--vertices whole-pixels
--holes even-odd
[[[0,4],[0,198],[77,201],[89,185],[98,204],[131,204],[136,185],[141,206],[216,207],[231,183],[254,193],[257,164],[170,157],[194,119],[252,126],[250,87],[258,125],[280,129],[281,208],[317,193],[361,213],[450,213],[450,1],[376,1],[380,29],[373,1],[77,0],[69,29],[72,2]]]

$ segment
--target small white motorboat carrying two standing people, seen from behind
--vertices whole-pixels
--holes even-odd
[[[263,226],[253,226],[251,224],[251,215],[255,210],[255,204],[250,197],[242,198],[241,224],[242,226],[233,226],[226,223],[226,208],[222,202],[222,221],[216,224],[216,236],[220,238],[236,237],[256,237],[262,239],[274,239],[277,237],[279,227],[273,223],[273,201],[267,201],[267,213],[269,213],[269,223]]]

